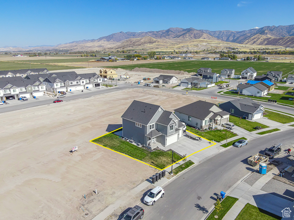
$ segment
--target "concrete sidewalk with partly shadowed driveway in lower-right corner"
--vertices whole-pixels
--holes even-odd
[[[257,180],[252,186],[245,182],[241,182],[238,187],[228,194],[229,196],[238,198],[239,200],[227,212],[227,214],[223,217],[223,220],[234,220],[247,203],[281,217],[282,210],[290,208],[292,211],[292,218],[294,213],[293,202],[260,190],[279,172],[278,167],[275,167],[273,170],[270,170],[267,174]]]

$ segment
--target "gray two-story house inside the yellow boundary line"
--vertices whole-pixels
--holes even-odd
[[[123,137],[148,148],[170,145],[183,136],[184,124],[161,106],[134,100],[121,116]]]

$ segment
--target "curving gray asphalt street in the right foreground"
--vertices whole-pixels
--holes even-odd
[[[213,206],[216,194],[226,192],[238,180],[253,170],[247,158],[275,143],[292,147],[293,129],[253,139],[242,148],[229,148],[191,168],[164,187],[164,197],[154,206],[141,203],[144,219],[201,219]],[[290,138],[289,138],[290,137]],[[257,168],[257,167],[255,167]]]

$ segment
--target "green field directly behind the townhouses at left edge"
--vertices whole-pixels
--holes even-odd
[[[0,70],[19,70],[19,69],[35,69],[35,68],[47,68],[47,70],[70,70],[79,69],[81,67],[70,67],[63,65],[48,65],[48,64],[32,64],[21,62],[6,62],[0,61]]]

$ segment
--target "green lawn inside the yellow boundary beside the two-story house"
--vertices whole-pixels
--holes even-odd
[[[110,148],[112,150],[118,151],[120,153],[129,155],[132,158],[136,158],[160,169],[171,165],[171,151],[164,152],[161,150],[156,150],[150,153],[150,151],[148,150],[144,150],[143,148],[137,147],[136,145],[122,140],[113,133],[109,133],[105,136],[97,138],[93,140],[93,142],[103,145],[104,147]],[[173,154],[173,163],[181,159],[182,157],[180,157],[176,153]]]

